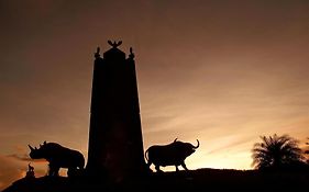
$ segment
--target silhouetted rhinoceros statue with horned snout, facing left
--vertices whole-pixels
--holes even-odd
[[[40,148],[32,147],[29,156],[32,159],[46,159],[49,162],[48,176],[58,176],[60,168],[67,168],[67,176],[75,176],[78,171],[81,171],[85,166],[85,159],[82,154],[77,150],[73,150],[60,146],[56,143],[46,143],[40,145]]]

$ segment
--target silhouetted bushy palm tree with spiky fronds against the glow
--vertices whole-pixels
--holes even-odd
[[[261,136],[262,143],[254,144],[252,149],[253,166],[257,169],[283,168],[302,159],[298,140],[288,135]]]

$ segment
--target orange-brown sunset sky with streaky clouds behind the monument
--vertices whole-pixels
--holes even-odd
[[[308,0],[0,0],[0,189],[24,176],[27,144],[87,158],[108,39],[134,49],[144,149],[198,138],[189,169],[252,169],[261,135],[309,136]]]

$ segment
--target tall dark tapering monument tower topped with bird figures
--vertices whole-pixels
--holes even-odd
[[[87,172],[109,182],[140,176],[145,168],[132,48],[95,54]]]

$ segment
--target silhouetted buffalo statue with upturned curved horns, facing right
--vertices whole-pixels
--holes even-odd
[[[197,139],[197,146],[189,143],[178,142],[177,138],[168,145],[154,145],[145,151],[145,158],[147,166],[154,163],[157,172],[162,172],[159,166],[175,166],[178,171],[178,166],[181,166],[185,170],[188,168],[185,165],[185,159],[190,156],[199,147],[199,140]]]

